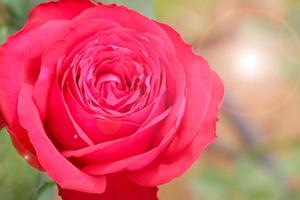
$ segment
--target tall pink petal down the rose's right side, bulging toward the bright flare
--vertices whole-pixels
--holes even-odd
[[[197,135],[207,115],[218,115],[218,110],[208,114],[207,111],[212,102],[221,104],[224,86],[205,59],[197,56],[192,47],[186,44],[174,29],[163,24],[161,27],[173,41],[177,55],[180,55],[187,81],[185,115],[181,122],[182,126],[169,148],[170,153],[180,153]]]

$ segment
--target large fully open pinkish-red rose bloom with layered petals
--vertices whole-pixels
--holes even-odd
[[[167,25],[88,0],[40,4],[0,47],[0,111],[65,200],[154,200],[216,138],[223,85]]]

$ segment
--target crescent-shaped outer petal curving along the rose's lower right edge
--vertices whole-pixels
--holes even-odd
[[[169,182],[191,167],[204,148],[214,141],[216,138],[217,113],[224,93],[219,77],[214,72],[211,76],[214,80],[213,98],[207,110],[207,116],[201,124],[201,128],[197,131],[196,137],[180,153],[170,154],[165,152],[146,168],[128,173],[129,180],[145,186],[161,185]]]

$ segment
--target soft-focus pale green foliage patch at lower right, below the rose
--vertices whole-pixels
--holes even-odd
[[[280,187],[272,175],[250,158],[234,163],[233,174],[210,166],[201,172],[196,190],[209,200],[279,200]]]

